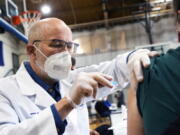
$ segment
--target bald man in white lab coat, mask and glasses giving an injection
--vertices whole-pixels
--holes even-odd
[[[63,21],[37,22],[28,40],[29,62],[23,62],[15,75],[0,80],[0,135],[88,135],[88,111],[82,101],[95,97],[99,87],[111,88],[112,79],[122,89],[128,85],[129,53],[70,72],[70,53],[76,44]],[[129,58],[138,77],[140,63],[148,65],[149,55],[139,50]]]

